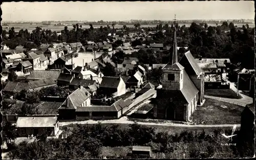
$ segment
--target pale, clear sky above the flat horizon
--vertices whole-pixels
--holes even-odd
[[[3,21],[254,19],[253,1],[4,2]]]

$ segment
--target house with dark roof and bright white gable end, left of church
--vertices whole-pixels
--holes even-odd
[[[125,94],[125,83],[120,77],[102,77],[99,93],[104,95],[117,93],[116,96]]]

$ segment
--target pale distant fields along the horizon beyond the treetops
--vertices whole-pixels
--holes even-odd
[[[245,24],[234,24],[234,25],[238,26],[238,27],[242,27]],[[179,24],[179,25],[180,26],[185,25],[186,27],[189,27],[191,24]],[[219,24],[219,25],[221,25],[221,24]],[[100,28],[100,26],[101,25],[94,25],[93,27],[94,28]],[[104,26],[106,26],[106,25],[102,25],[102,27],[104,27]],[[143,27],[145,27],[145,28],[147,28],[147,27],[156,27],[156,26],[157,25],[141,25],[142,28]],[[208,24],[208,26],[216,26],[216,24]],[[254,27],[255,25],[254,24],[249,24],[249,26],[250,27]],[[41,25],[41,24],[38,24],[38,25],[36,25],[36,24],[32,24],[32,25],[28,25],[28,24],[26,24],[26,25],[14,24],[14,25],[12,25],[11,24],[9,26],[3,26],[3,30],[9,31],[9,29],[6,28],[6,27],[9,27],[9,29],[14,27],[16,32],[18,32],[21,29],[24,29],[24,30],[27,29],[29,32],[32,32],[32,30],[34,30],[36,27],[40,27],[40,28],[45,29],[45,30],[51,30],[51,31],[60,32],[61,30],[64,29],[65,26],[64,25],[62,25],[62,26],[54,26],[53,24],[52,25]],[[126,27],[134,28],[133,25],[126,25]],[[85,28],[90,28],[90,26],[89,25],[86,25],[86,26],[82,25],[82,28],[84,28],[84,29]],[[115,28],[123,28],[123,25],[116,25]],[[68,26],[68,29],[71,30],[71,29],[73,29],[73,27],[72,26]]]

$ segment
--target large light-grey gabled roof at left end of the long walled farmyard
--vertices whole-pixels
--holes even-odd
[[[76,109],[90,96],[91,94],[88,92],[88,90],[86,90],[86,88],[77,88],[72,94],[68,96],[68,98],[62,103],[59,109]]]

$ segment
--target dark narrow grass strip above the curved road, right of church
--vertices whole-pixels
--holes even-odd
[[[206,96],[215,96],[223,98],[241,99],[242,96],[237,96],[232,89],[205,89],[204,94]]]

